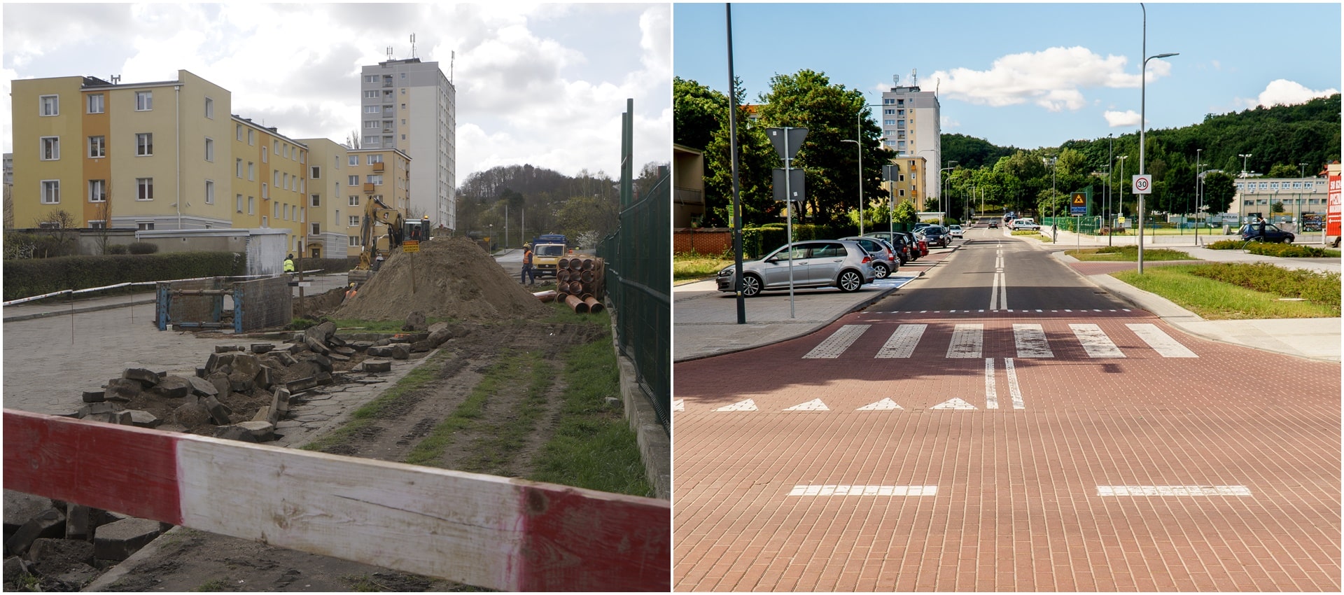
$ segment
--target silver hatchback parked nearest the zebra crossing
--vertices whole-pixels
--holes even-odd
[[[742,263],[742,295],[754,297],[761,291],[789,289],[790,269],[793,287],[835,286],[841,291],[857,291],[876,278],[872,257],[857,242],[794,242],[775,248],[765,258]],[[735,290],[735,265],[719,271],[719,291]]]

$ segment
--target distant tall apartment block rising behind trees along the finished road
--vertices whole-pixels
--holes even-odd
[[[938,168],[942,165],[942,125],[939,124],[938,95],[922,91],[914,74],[909,86],[894,86],[882,94],[882,140],[896,152],[896,161],[915,164],[902,167],[902,173],[913,181],[911,203],[925,210],[925,197],[939,197]],[[906,157],[906,158],[902,158]],[[910,157],[919,158],[911,161]]]

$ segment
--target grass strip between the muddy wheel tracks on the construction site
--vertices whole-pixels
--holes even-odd
[[[480,431],[482,438],[472,445],[462,445],[472,455],[458,465],[458,470],[501,474],[499,469],[509,463],[512,453],[527,441],[528,434],[535,431],[554,376],[555,369],[539,353],[505,352],[476,384],[472,394],[457,406],[453,415],[439,422],[411,449],[405,462],[442,466],[439,457],[454,442],[454,435],[472,428]],[[499,423],[481,424],[480,416],[485,403],[507,391],[524,391],[513,415],[503,418]]]

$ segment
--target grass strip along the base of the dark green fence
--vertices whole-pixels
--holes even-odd
[[[632,496],[653,497],[634,432],[620,410],[620,372],[609,338],[564,355],[564,406],[555,435],[536,458],[528,479]]]

